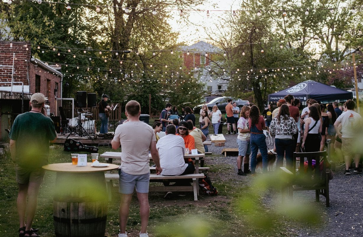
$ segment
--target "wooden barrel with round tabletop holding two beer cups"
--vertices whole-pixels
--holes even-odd
[[[50,164],[44,169],[57,172],[53,219],[55,235],[104,237],[107,220],[107,191],[104,172],[118,165],[96,168],[72,163]]]

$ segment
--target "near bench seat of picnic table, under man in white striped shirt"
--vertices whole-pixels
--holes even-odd
[[[163,181],[170,181],[175,182],[175,179],[192,179],[193,185],[192,186],[150,186],[149,192],[189,192],[193,191],[194,193],[194,201],[198,200],[199,196],[199,184],[198,179],[204,178],[204,174],[185,174],[185,175],[178,175],[178,176],[164,176],[164,175],[156,175],[150,174],[150,180],[156,182],[163,182]],[[119,179],[119,175],[116,173],[112,174],[105,174],[106,180],[113,180]],[[173,181],[174,180],[174,181]],[[110,193],[111,190],[109,190]]]

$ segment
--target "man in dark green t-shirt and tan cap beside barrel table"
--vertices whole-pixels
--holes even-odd
[[[9,134],[10,152],[19,186],[19,235],[36,236],[37,230],[31,227],[37,208],[39,187],[44,177],[42,166],[48,164],[49,141],[57,140],[52,119],[42,114],[45,111],[44,102],[43,94],[33,94],[29,102],[32,109],[15,118]]]

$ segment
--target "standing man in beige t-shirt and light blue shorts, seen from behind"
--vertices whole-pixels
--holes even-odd
[[[126,223],[135,186],[140,203],[140,237],[148,236],[146,228],[150,215],[148,200],[149,150],[156,165],[156,173],[160,174],[163,170],[160,167],[154,130],[150,125],[139,120],[140,113],[139,102],[134,100],[127,102],[125,108],[127,120],[116,128],[115,136],[111,141],[113,149],[118,149],[120,145],[122,149],[122,162],[118,171],[119,192],[121,194],[119,237],[127,237]]]

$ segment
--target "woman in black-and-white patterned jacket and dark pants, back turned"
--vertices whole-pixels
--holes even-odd
[[[286,156],[286,168],[293,168],[293,156],[295,151],[295,141],[293,135],[297,133],[295,119],[290,116],[289,106],[281,105],[277,116],[270,124],[270,134],[275,136],[275,146],[277,152],[276,168],[282,167],[284,154]]]

